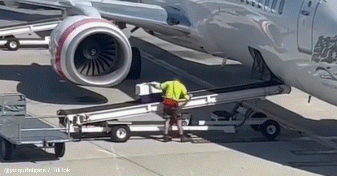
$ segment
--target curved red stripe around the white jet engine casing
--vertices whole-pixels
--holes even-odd
[[[92,23],[92,22],[103,22],[103,23],[109,23],[109,21],[104,20],[102,18],[87,18],[87,19],[83,19],[80,21],[75,22],[74,24],[72,24],[70,27],[68,27],[61,35],[59,41],[58,41],[58,45],[57,45],[57,49],[56,49],[56,53],[55,53],[55,65],[56,65],[56,72],[61,76],[61,77],[65,77],[64,73],[62,71],[61,68],[61,55],[62,55],[62,48],[63,45],[66,41],[66,39],[68,38],[68,36],[78,27],[87,24],[87,23]]]

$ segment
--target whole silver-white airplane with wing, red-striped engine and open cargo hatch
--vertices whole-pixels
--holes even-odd
[[[50,51],[56,72],[77,84],[110,87],[128,74],[139,76],[139,50],[131,48],[125,28],[132,24],[165,41],[249,65],[254,79],[275,79],[337,105],[336,0],[4,2],[68,15],[52,31]]]

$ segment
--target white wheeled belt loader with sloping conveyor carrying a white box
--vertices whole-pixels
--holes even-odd
[[[140,98],[135,101],[80,109],[61,109],[58,115],[64,117],[59,119],[60,123],[70,122],[70,133],[78,134],[80,138],[87,133],[106,133],[110,134],[112,141],[115,142],[126,142],[131,132],[162,131],[164,119],[161,117],[161,91],[153,89],[150,84],[153,82],[136,85],[136,94]],[[246,124],[251,125],[254,130],[261,131],[267,138],[274,139],[279,134],[280,125],[258,112],[253,106],[244,105],[243,102],[289,92],[289,86],[276,81],[189,92],[192,98],[182,106],[182,111],[231,102],[237,104],[230,113],[213,112],[213,120],[200,120],[194,125],[189,115],[183,114],[183,130],[222,130],[225,133],[235,133],[238,127]],[[241,118],[238,118],[239,115]],[[177,127],[172,126],[172,130],[177,130]]]

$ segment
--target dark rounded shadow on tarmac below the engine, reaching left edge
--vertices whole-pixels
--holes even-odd
[[[0,65],[0,80],[18,81],[17,91],[34,101],[81,105],[108,102],[100,94],[70,82],[60,82],[48,65]]]

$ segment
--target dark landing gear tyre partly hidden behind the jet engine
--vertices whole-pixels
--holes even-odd
[[[138,79],[141,77],[142,56],[138,48],[132,47],[131,49],[132,49],[132,63],[127,78]]]

